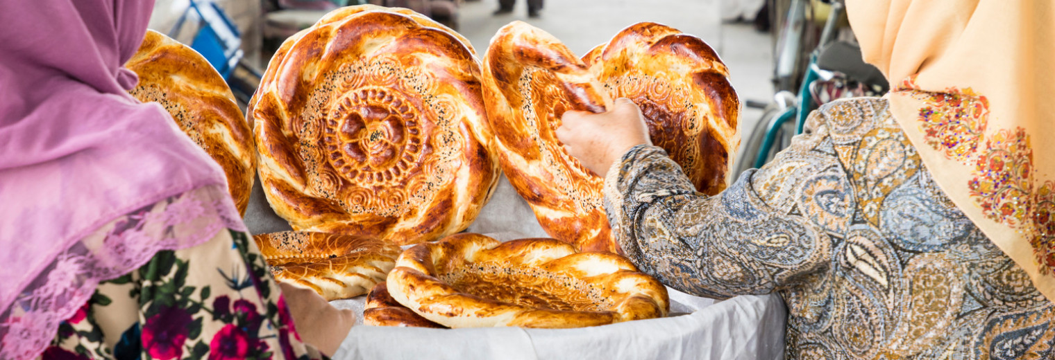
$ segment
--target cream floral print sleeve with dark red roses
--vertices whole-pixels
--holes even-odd
[[[293,327],[255,243],[223,231],[104,281],[43,359],[320,359]]]

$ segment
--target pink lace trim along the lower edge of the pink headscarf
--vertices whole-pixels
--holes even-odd
[[[159,251],[202,244],[225,228],[246,231],[223,185],[169,197],[99,227],[60,253],[0,313],[0,359],[39,355],[100,281],[132,272]]]

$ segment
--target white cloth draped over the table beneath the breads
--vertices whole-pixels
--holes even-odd
[[[260,178],[253,185],[246,225],[252,234],[290,229],[271,211]],[[534,213],[503,176],[492,200],[468,227],[501,241],[546,237]],[[783,359],[787,311],[778,295],[724,301],[667,288],[671,316],[605,326],[545,329],[521,327],[421,328],[369,326],[366,296],[330,303],[358,314],[357,325],[334,359]]]

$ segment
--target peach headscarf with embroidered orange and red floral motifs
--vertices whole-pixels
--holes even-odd
[[[846,3],[935,181],[1055,300],[1055,1]]]

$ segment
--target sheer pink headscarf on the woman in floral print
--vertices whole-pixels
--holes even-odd
[[[127,93],[137,79],[122,64],[142,41],[153,5],[153,0],[0,0],[0,347],[39,336],[25,331],[25,322],[53,309],[30,307],[72,312],[25,297],[83,237],[166,198],[208,185],[226,188],[219,166],[161,106]],[[228,200],[210,211],[231,214],[233,206]],[[193,243],[174,246],[188,245]],[[107,247],[91,252],[87,258],[120,258]],[[152,255],[107,266],[137,266]],[[107,280],[92,278],[99,274],[78,274],[76,284],[59,284],[77,293],[64,300],[83,302]],[[18,321],[22,327],[13,324]],[[25,334],[14,334],[16,327]],[[0,349],[0,359],[23,356]]]

